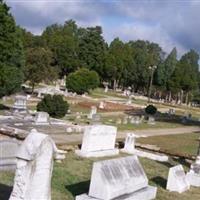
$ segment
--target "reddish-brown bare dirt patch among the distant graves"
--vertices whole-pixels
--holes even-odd
[[[99,108],[99,103],[89,102],[89,101],[79,102],[78,105],[83,108],[91,108],[91,106],[96,106],[98,110],[101,112],[127,111],[134,109],[133,106],[123,105],[119,103],[112,103],[112,102],[104,102],[104,103],[105,103],[104,109]]]

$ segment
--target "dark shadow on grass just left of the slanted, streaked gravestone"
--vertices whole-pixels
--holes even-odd
[[[80,183],[72,184],[72,185],[66,185],[65,188],[71,192],[71,194],[75,197],[77,195],[88,193],[90,186],[90,181],[83,181]]]

